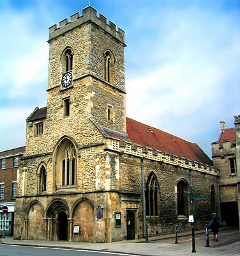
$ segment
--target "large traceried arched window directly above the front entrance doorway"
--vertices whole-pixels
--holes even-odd
[[[62,158],[62,186],[75,185],[76,183],[76,151],[72,144],[63,150]]]

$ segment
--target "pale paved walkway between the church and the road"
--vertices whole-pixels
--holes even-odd
[[[235,231],[236,232],[236,231]],[[195,234],[202,234],[205,237],[205,230],[195,231]],[[220,230],[221,234],[221,230]],[[180,233],[179,237],[190,236],[190,232]],[[171,241],[171,242],[169,242]],[[84,243],[69,241],[33,241],[33,240],[14,240],[13,237],[1,238],[2,244],[14,244],[20,246],[38,246],[48,248],[64,248],[71,250],[90,250],[112,253],[123,253],[123,255],[139,256],[181,256],[181,255],[232,255],[240,256],[240,241],[225,244],[223,246],[206,247],[202,244],[195,244],[196,252],[191,252],[192,244],[174,243],[175,234],[149,237],[149,243],[146,239],[119,241],[113,243]]]

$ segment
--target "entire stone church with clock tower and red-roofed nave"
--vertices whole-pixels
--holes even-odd
[[[50,27],[48,43],[47,107],[26,120],[14,239],[139,239],[144,221],[158,236],[191,230],[190,215],[205,228],[218,172],[196,143],[126,117],[124,31],[88,6]]]

